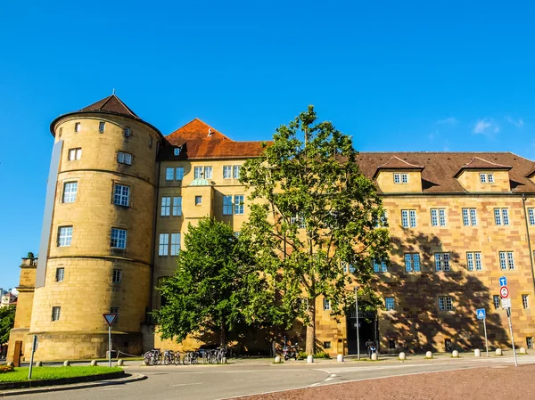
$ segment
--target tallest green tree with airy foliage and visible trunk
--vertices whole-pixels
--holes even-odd
[[[357,156],[350,136],[317,122],[309,106],[242,168],[251,190],[242,234],[284,312],[307,326],[308,354],[315,353],[317,298],[330,301],[334,316],[354,304],[347,270],[354,269],[360,295],[378,302],[369,287],[372,261],[387,260],[389,234],[381,198]]]

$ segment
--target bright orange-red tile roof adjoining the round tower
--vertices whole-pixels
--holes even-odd
[[[235,142],[199,118],[166,136],[171,146],[161,152],[164,159],[237,159],[259,157],[266,142]],[[172,148],[181,147],[173,157]]]

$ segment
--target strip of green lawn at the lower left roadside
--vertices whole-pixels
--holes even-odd
[[[28,367],[15,368],[15,371],[0,373],[0,382],[21,382],[28,380]],[[122,371],[120,367],[34,367],[31,380],[55,380],[88,375],[102,375]]]

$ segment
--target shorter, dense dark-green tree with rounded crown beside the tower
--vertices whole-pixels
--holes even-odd
[[[213,218],[189,224],[177,264],[175,275],[158,288],[166,300],[153,313],[162,339],[180,342],[192,333],[218,331],[226,346],[237,324],[270,321],[273,293],[251,266],[251,246],[229,225]]]

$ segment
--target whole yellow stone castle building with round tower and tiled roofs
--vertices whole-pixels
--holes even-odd
[[[20,340],[29,355],[37,335],[37,360],[103,356],[110,312],[119,315],[116,350],[198,346],[161,342],[154,288],[174,273],[188,224],[213,216],[240,232],[240,168],[262,143],[236,142],[197,118],[164,136],[115,95],[55,118],[50,131],[40,257],[21,264],[10,350]],[[535,163],[509,152],[368,152],[358,162],[383,195],[391,232],[391,262],[374,263],[384,308],[337,321],[318,298],[321,347],[356,353],[357,326],[361,346],[375,339],[382,350],[481,347],[478,308],[491,346],[510,346],[503,275],[515,343],[531,347]]]

